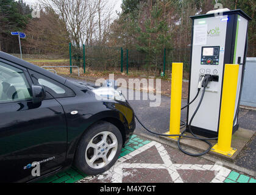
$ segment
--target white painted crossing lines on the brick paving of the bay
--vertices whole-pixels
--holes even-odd
[[[150,147],[155,146],[157,148],[157,152],[160,155],[160,157],[163,160],[163,164],[152,164],[152,163],[126,163],[126,160],[129,160],[132,157],[135,157],[136,155],[140,154],[141,152],[144,152],[148,150]],[[220,165],[184,165],[184,164],[173,164],[171,161],[171,158],[168,155],[168,152],[166,151],[165,147],[157,143],[155,141],[151,141],[151,143],[148,143],[144,145],[143,147],[140,147],[136,151],[130,152],[130,154],[125,155],[124,157],[121,157],[116,161],[115,165],[109,169],[108,171],[104,172],[103,174],[100,174],[97,177],[97,179],[104,179],[110,178],[112,183],[122,183],[123,182],[123,176],[129,175],[129,172],[123,172],[123,169],[130,168],[130,169],[166,169],[169,172],[169,175],[171,176],[171,179],[174,183],[183,183],[183,180],[181,179],[179,173],[177,172],[177,169],[182,170],[195,170],[195,171],[215,171],[215,177],[211,181],[212,183],[222,183],[226,179],[227,176],[229,176],[230,169],[224,168]],[[107,175],[107,177],[106,177]],[[104,176],[104,177],[102,177]],[[91,176],[85,177],[84,179],[80,180],[79,182],[88,181],[95,179],[95,177],[91,178]]]

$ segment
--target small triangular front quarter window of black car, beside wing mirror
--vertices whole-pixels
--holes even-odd
[[[76,94],[74,91],[62,85],[61,83],[50,79],[49,77],[43,76],[43,74],[36,73],[35,71],[29,70],[32,80],[35,84],[43,85],[46,92],[51,94],[54,98],[69,98],[74,97]]]

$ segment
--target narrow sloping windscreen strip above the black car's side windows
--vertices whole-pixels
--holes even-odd
[[[40,68],[39,66],[33,65],[32,63],[26,62],[25,60],[19,59],[18,57],[7,54],[5,52],[0,51],[0,58],[23,66],[24,68],[31,69],[32,71],[35,71],[37,73],[43,74],[44,76],[50,77],[51,79],[54,79],[60,83],[64,84],[66,82],[65,78],[58,76],[57,74],[51,73],[46,69]]]

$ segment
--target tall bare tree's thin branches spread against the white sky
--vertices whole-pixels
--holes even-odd
[[[111,9],[107,0],[41,0],[41,4],[52,7],[65,21],[73,44],[93,44],[104,40],[110,25]]]

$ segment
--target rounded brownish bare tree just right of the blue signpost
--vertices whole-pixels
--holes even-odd
[[[31,19],[25,33],[24,51],[27,54],[68,55],[68,32],[53,10],[41,11],[40,18]]]

